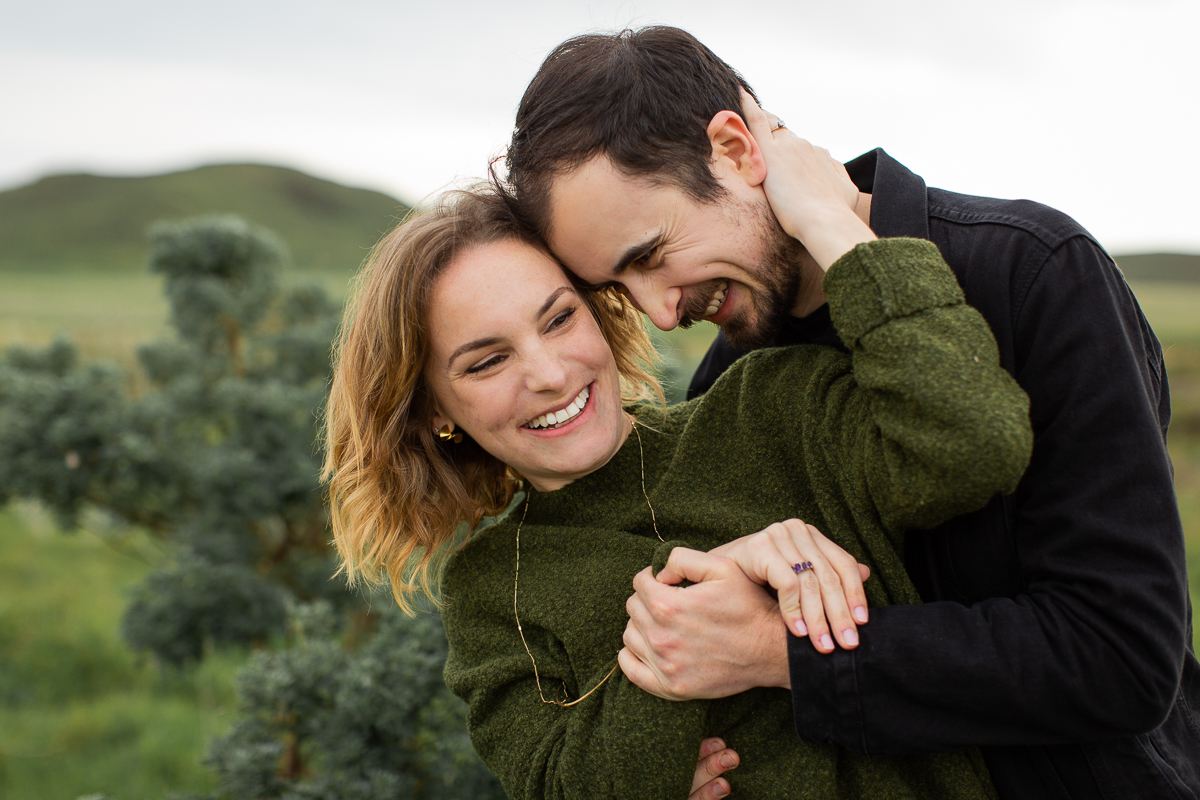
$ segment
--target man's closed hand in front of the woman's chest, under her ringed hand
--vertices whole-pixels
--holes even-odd
[[[672,585],[682,581],[694,585]],[[668,700],[791,688],[779,603],[730,559],[677,547],[658,578],[647,567],[634,589],[618,661],[635,685]]]

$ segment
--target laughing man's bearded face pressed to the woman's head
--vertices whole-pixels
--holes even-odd
[[[726,193],[697,203],[598,156],[551,186],[550,247],[582,281],[619,284],[664,331],[707,319],[737,347],[762,347],[799,297],[804,249],[761,188],[718,180]]]

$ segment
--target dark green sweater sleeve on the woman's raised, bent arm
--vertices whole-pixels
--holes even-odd
[[[851,355],[822,349],[805,360],[786,348],[745,359],[738,425],[748,439],[773,426],[791,453],[803,452],[818,495],[828,488],[869,509],[888,531],[931,527],[1015,489],[1032,449],[1028,398],[937,248],[859,245],[824,289]],[[764,408],[754,414],[751,403]]]

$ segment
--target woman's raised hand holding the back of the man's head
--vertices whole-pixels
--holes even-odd
[[[858,188],[828,150],[812,146],[787,128],[772,131],[772,118],[744,90],[742,115],[767,163],[762,186],[775,218],[822,270],[856,245],[876,237],[856,213]]]

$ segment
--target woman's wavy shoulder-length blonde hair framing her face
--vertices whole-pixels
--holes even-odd
[[[338,572],[352,587],[386,575],[407,613],[418,590],[437,603],[439,557],[460,525],[472,531],[503,512],[521,487],[520,475],[470,439],[437,439],[424,378],[438,276],[466,249],[506,240],[545,251],[492,190],[443,194],[371,251],[335,343],[323,477]],[[612,348],[623,401],[662,403],[641,314],[611,289],[581,296]]]

